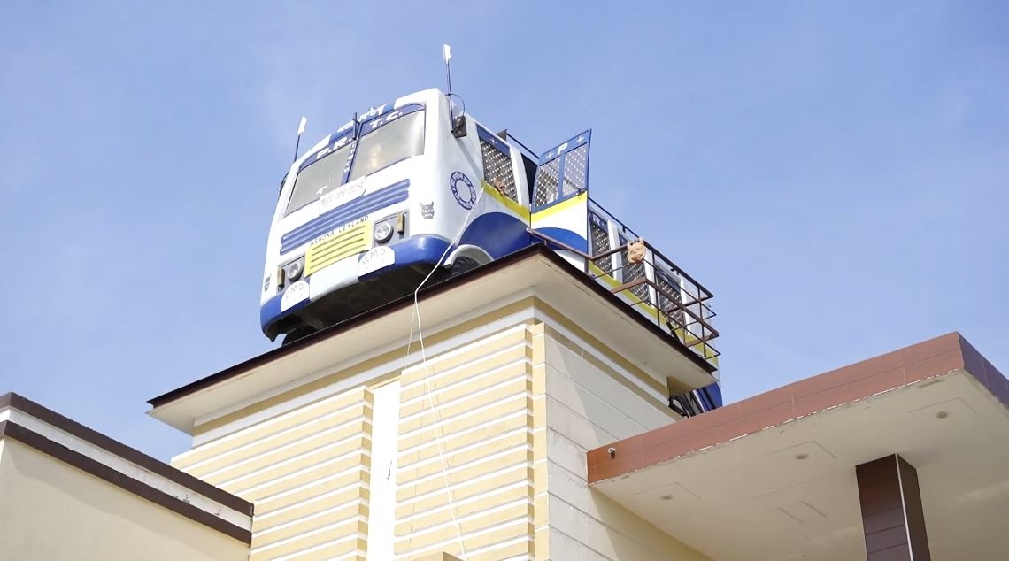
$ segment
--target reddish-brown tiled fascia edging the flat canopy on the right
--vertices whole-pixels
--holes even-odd
[[[1009,380],[959,333],[863,360],[587,452],[595,483],[963,368],[1009,407]],[[609,450],[614,453],[610,455]]]

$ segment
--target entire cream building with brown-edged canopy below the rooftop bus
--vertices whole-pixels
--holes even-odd
[[[18,409],[19,399],[0,404],[0,489],[19,493],[0,494],[0,504],[31,511],[40,491],[9,467],[30,453],[60,471],[53,504],[179,519],[178,531],[108,534],[109,543],[150,548],[172,547],[175,536],[194,551],[178,559],[881,560],[913,550],[918,560],[925,551],[1009,551],[998,516],[1009,512],[1009,384],[959,335],[689,419],[668,407],[669,396],[713,379],[675,338],[534,246],[426,289],[416,305],[391,303],[154,398],[150,415],[193,438],[172,467],[97,446],[112,452],[96,453],[99,465],[132,458],[118,473],[174,481],[167,496],[195,506],[203,514],[188,514],[200,521],[163,495],[117,485],[122,475],[95,475],[45,451],[52,445],[24,444],[9,427],[35,406]],[[79,492],[88,485],[130,503],[104,506]],[[17,532],[46,523],[39,515]],[[87,540],[79,531],[69,542]]]

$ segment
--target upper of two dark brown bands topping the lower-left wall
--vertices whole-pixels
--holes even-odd
[[[54,411],[46,409],[31,400],[17,394],[6,394],[4,396],[0,396],[0,409],[8,406],[12,409],[16,409],[30,415],[39,421],[43,421],[64,432],[90,442],[107,452],[131,461],[145,469],[149,469],[150,471],[166,479],[175,481],[180,485],[189,487],[194,492],[202,494],[212,500],[216,500],[233,511],[241,513],[245,516],[252,516],[252,503],[248,500],[235,496],[219,487],[215,487],[214,485],[211,485],[202,479],[198,479],[185,471],[176,469],[158,459],[152,458],[134,448],[130,448],[129,446],[113,440],[98,431],[89,429],[88,427],[68,419]]]

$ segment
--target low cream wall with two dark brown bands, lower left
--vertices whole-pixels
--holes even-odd
[[[244,561],[252,504],[0,396],[0,559]]]

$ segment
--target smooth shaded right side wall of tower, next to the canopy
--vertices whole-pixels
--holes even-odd
[[[545,334],[547,504],[550,559],[707,560],[587,485],[585,453],[668,425],[675,415],[631,389],[627,372],[591,361],[592,351]]]

